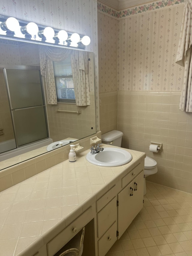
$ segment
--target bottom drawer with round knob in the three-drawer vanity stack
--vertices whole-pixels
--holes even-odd
[[[104,233],[98,241],[98,255],[104,256],[107,251],[112,247],[117,240],[117,222],[115,221],[112,226]]]

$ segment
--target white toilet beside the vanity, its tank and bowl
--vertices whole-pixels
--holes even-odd
[[[112,146],[121,147],[123,133],[121,131],[109,131],[101,136],[102,143]],[[146,194],[146,180],[145,177],[157,173],[157,162],[146,156],[144,164],[144,195]]]

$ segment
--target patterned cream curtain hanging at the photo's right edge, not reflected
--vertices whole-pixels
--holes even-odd
[[[185,0],[176,63],[184,67],[179,109],[192,112],[192,0]]]

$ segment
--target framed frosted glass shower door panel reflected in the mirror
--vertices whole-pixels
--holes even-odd
[[[4,69],[17,147],[48,138],[40,70]]]

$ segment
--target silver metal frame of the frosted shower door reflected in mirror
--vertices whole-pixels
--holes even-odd
[[[15,136],[15,143],[16,143],[16,148],[21,148],[22,146],[25,146],[25,145],[30,145],[30,144],[33,144],[37,141],[34,141],[34,142],[31,142],[31,143],[27,143],[25,145],[21,145],[21,146],[18,146],[18,141],[17,141],[17,136],[16,136],[16,127],[15,127],[15,123],[14,123],[14,116],[13,116],[13,111],[17,111],[17,110],[20,110],[20,109],[17,109],[17,110],[13,110],[12,108],[12,105],[11,105],[11,98],[10,98],[10,91],[9,91],[9,83],[8,83],[8,79],[7,79],[7,72],[6,72],[6,69],[19,69],[19,70],[39,70],[40,72],[40,78],[41,78],[41,89],[42,89],[42,96],[43,96],[43,105],[41,105],[41,107],[44,107],[44,110],[45,110],[45,119],[46,119],[46,127],[47,127],[47,134],[48,134],[48,137],[50,137],[49,135],[49,126],[48,126],[48,119],[47,119],[47,110],[46,110],[46,101],[45,101],[45,92],[44,92],[44,83],[43,83],[43,79],[42,79],[42,76],[41,76],[41,70],[40,70],[40,66],[36,65],[36,66],[26,66],[26,65],[0,65],[0,68],[3,68],[3,73],[4,73],[4,79],[5,79],[5,82],[6,82],[6,88],[7,88],[7,93],[8,93],[8,97],[9,97],[9,105],[10,105],[10,112],[11,112],[11,117],[12,117],[12,124],[13,124],[13,131],[14,131],[14,136]],[[38,106],[34,106],[34,107],[26,107],[26,108],[23,108],[23,109],[29,109],[29,108],[37,108]],[[44,139],[41,139],[41,140],[38,140],[38,141],[43,141],[47,138],[44,138]]]

